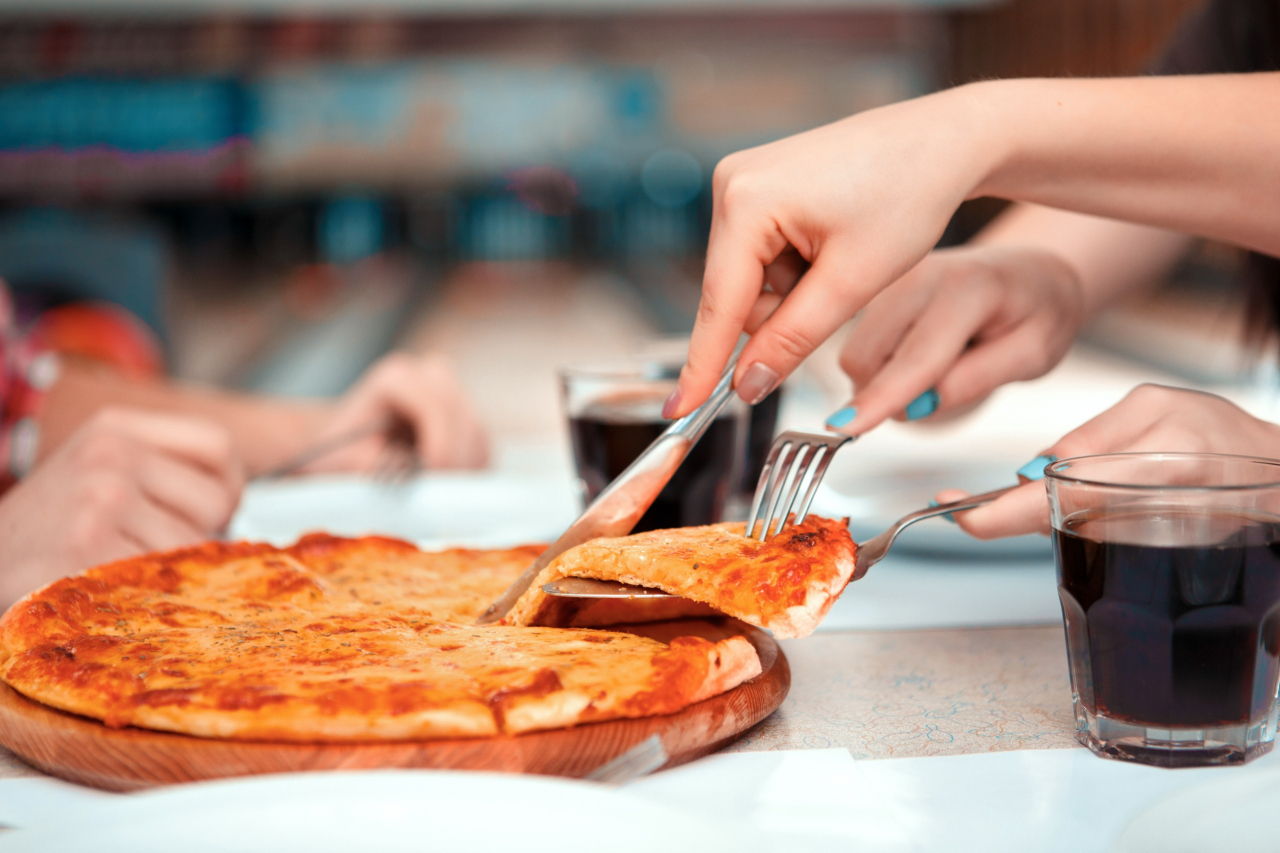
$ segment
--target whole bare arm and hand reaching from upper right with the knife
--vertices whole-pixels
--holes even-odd
[[[1274,73],[995,81],[726,158],[689,364],[668,414],[705,400],[742,330],[753,339],[739,392],[762,398],[919,263],[965,199],[1280,251],[1276,104]],[[788,292],[762,291],[792,251],[809,270]]]

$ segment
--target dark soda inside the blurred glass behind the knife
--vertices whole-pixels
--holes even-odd
[[[671,425],[646,409],[598,405],[570,418],[570,441],[588,502]],[[740,453],[739,423],[732,415],[712,421],[636,524],[636,533],[712,524],[722,519]]]

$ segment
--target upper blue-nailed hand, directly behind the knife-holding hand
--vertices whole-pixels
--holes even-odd
[[[934,251],[863,309],[840,364],[852,402],[829,428],[964,411],[1007,382],[1042,377],[1084,321],[1075,270],[1037,248]]]

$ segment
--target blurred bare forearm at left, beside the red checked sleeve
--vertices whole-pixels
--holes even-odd
[[[64,359],[40,416],[38,457],[46,459],[76,429],[108,406],[191,415],[230,430],[250,475],[269,470],[314,439],[325,403],[284,402],[168,382],[140,382],[110,368]]]

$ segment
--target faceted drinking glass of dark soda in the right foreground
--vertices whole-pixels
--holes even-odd
[[[1280,461],[1108,453],[1044,473],[1080,743],[1164,767],[1270,752]]]

